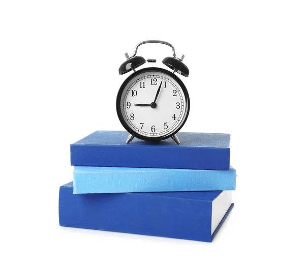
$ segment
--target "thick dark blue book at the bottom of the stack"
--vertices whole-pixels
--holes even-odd
[[[59,225],[211,242],[230,213],[231,191],[73,194],[59,190]]]

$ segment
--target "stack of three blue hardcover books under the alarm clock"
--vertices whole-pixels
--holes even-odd
[[[234,206],[230,135],[178,133],[180,145],[128,135],[97,131],[71,145],[59,224],[211,242]]]

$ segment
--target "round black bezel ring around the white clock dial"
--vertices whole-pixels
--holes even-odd
[[[130,81],[132,81],[133,78],[135,78],[136,76],[138,76],[141,73],[145,73],[145,72],[161,72],[164,73],[172,78],[174,78],[176,80],[176,82],[179,84],[181,91],[184,93],[185,95],[185,99],[186,99],[186,113],[185,113],[185,118],[183,119],[183,121],[180,123],[179,127],[174,130],[173,132],[164,135],[164,136],[159,136],[159,137],[147,137],[144,136],[142,134],[137,133],[136,131],[134,131],[133,129],[131,129],[129,127],[129,125],[125,122],[123,113],[121,112],[121,108],[120,108],[120,101],[123,98],[123,91],[126,87],[126,85],[128,83],[130,83]],[[172,137],[173,135],[175,135],[186,123],[188,116],[189,116],[189,112],[190,112],[190,97],[189,97],[189,93],[187,91],[187,88],[185,86],[185,84],[181,81],[181,79],[175,75],[173,72],[170,72],[168,70],[162,69],[162,68],[158,68],[158,67],[149,67],[149,68],[144,68],[141,70],[138,70],[136,72],[134,72],[133,74],[131,74],[129,77],[126,78],[126,80],[123,82],[123,84],[121,84],[117,96],[116,96],[116,113],[117,116],[119,118],[119,121],[121,123],[121,125],[123,125],[123,127],[125,128],[125,130],[127,132],[129,132],[130,134],[132,134],[133,136],[142,139],[142,140],[146,140],[146,141],[161,141],[161,140],[165,140],[167,138]]]

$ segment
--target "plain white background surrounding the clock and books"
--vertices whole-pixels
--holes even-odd
[[[303,270],[304,14],[302,1],[1,1],[0,269]],[[182,131],[231,134],[235,208],[213,243],[58,225],[70,144],[123,129],[118,67],[148,39],[186,55]],[[138,53],[164,68],[171,50]]]

